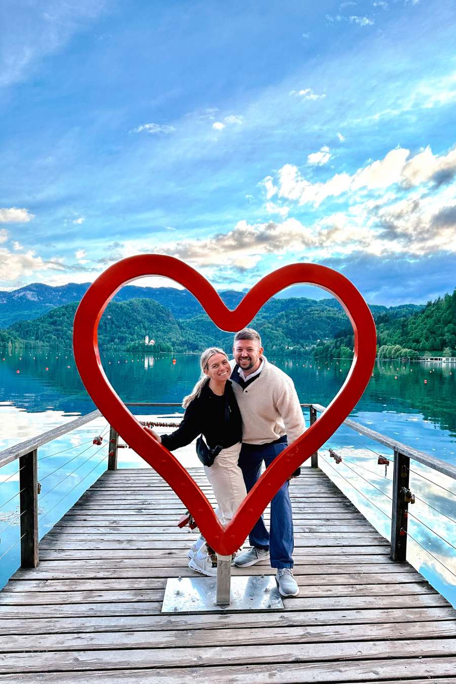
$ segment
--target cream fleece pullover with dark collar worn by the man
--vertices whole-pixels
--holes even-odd
[[[247,444],[267,444],[286,434],[291,444],[306,430],[295,385],[265,356],[263,361],[260,375],[244,390],[237,382],[232,383],[241,410],[242,440]],[[236,362],[232,360],[230,365],[233,369]]]

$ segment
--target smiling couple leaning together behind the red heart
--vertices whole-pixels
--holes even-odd
[[[202,353],[202,375],[183,400],[185,415],[172,434],[152,436],[170,451],[191,443],[198,435],[206,439],[211,466],[205,465],[222,525],[230,522],[261,473],[263,461],[273,460],[304,432],[306,425],[293,381],[263,356],[260,335],[252,328],[234,336],[234,360],[211,347]],[[208,453],[206,453],[208,456]],[[214,458],[215,456],[215,458]],[[298,471],[297,471],[297,474]],[[282,596],[297,596],[293,577],[293,519],[289,482],[271,501],[268,532],[263,516],[249,535],[251,549],[237,555],[238,568],[271,559]],[[189,551],[189,567],[215,576],[210,549],[202,536]]]

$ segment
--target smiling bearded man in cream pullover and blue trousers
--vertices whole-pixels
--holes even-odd
[[[243,421],[239,466],[249,492],[265,466],[294,442],[306,429],[304,416],[293,384],[283,371],[263,356],[260,335],[244,328],[234,336],[234,361],[231,380]],[[239,568],[247,568],[271,558],[277,568],[277,583],[282,596],[297,596],[293,577],[293,518],[289,482],[285,482],[271,501],[268,532],[263,516],[249,535],[252,548],[237,557]]]

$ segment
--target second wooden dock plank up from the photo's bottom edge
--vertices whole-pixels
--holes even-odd
[[[140,648],[116,650],[75,650],[48,651],[38,653],[3,653],[0,655],[0,668],[5,674],[10,672],[68,672],[72,670],[116,670],[129,663],[129,668],[193,668],[200,663],[205,666],[230,666],[247,663],[316,663],[330,660],[381,658],[385,660],[401,659],[437,659],[453,660],[453,672],[456,656],[456,640],[454,639],[420,639],[388,642],[388,649],[382,642],[333,642],[328,644],[256,644],[255,646],[193,646],[193,648]],[[418,661],[419,662],[419,661]],[[337,663],[338,667],[340,663]],[[353,663],[351,665],[353,668]],[[283,681],[283,680],[282,680]]]

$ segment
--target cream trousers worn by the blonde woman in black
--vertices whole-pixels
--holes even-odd
[[[204,473],[212,485],[218,508],[215,514],[226,527],[245,497],[244,478],[237,462],[241,443],[222,449],[210,468],[204,466]]]

